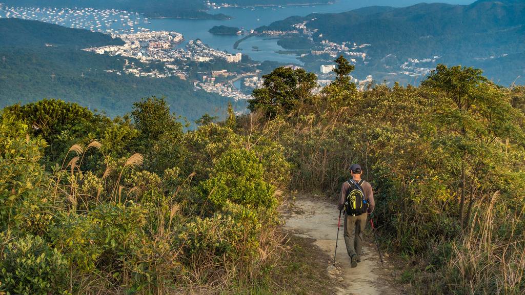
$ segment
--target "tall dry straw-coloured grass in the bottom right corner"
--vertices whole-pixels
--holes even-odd
[[[453,243],[444,288],[453,294],[525,294],[523,212],[498,214],[498,193],[476,209],[470,231]],[[524,207],[525,209],[525,207]]]

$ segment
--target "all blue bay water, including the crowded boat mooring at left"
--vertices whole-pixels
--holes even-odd
[[[1,3],[2,0],[0,0]],[[316,0],[307,0],[315,2]],[[132,27],[127,25],[127,20],[136,22],[138,31],[140,27],[151,30],[173,30],[184,35],[186,45],[187,41],[201,39],[205,44],[212,48],[227,51],[230,53],[242,52],[247,54],[250,58],[257,61],[278,61],[283,63],[302,64],[298,60],[298,56],[293,54],[279,54],[276,51],[284,50],[277,44],[277,39],[254,36],[240,43],[238,49],[234,49],[234,44],[244,36],[225,36],[213,35],[208,30],[214,26],[224,25],[230,27],[239,27],[245,30],[255,29],[260,26],[269,25],[277,20],[285,19],[290,16],[306,16],[312,13],[341,13],[356,8],[383,5],[404,7],[420,3],[422,0],[339,0],[335,4],[330,5],[304,5],[304,6],[279,6],[279,7],[228,7],[220,9],[211,9],[209,13],[223,13],[232,16],[228,20],[214,20],[214,19],[180,19],[180,18],[153,18],[149,19],[149,23],[144,22],[144,17],[139,14],[128,14],[119,12],[116,15],[108,14],[106,18],[93,15],[75,13],[69,15],[65,19],[57,20],[59,14],[54,12],[52,14],[44,13],[43,11],[27,12],[22,10],[18,16],[28,19],[37,19],[44,22],[56,23],[66,27],[76,27],[98,30],[106,33],[107,29],[114,29],[120,31],[121,34],[129,34]],[[441,2],[449,4],[470,4],[473,0],[443,0]],[[0,5],[0,7],[2,7]],[[7,7],[0,9],[0,17],[6,17],[8,13]],[[24,13],[24,15],[21,15]],[[30,16],[31,15],[31,16]],[[98,25],[100,23],[100,25]],[[132,30],[131,30],[132,31]]]

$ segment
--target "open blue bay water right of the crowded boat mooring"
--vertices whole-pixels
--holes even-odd
[[[314,0],[312,0],[314,1]],[[449,4],[470,4],[472,0],[445,0],[439,1]],[[178,18],[155,18],[150,19],[151,24],[142,26],[152,30],[174,30],[184,35],[188,40],[201,39],[205,44],[219,50],[230,53],[242,52],[250,58],[258,61],[271,60],[284,63],[301,64],[296,55],[278,54],[277,50],[284,50],[277,45],[276,39],[264,37],[251,37],[239,45],[240,50],[235,50],[234,44],[244,36],[213,35],[208,32],[213,26],[239,27],[247,30],[260,26],[269,25],[277,20],[290,16],[306,16],[312,13],[340,13],[366,6],[383,5],[404,7],[421,3],[421,0],[340,0],[331,5],[307,5],[307,6],[281,6],[281,7],[228,7],[212,9],[209,13],[223,13],[232,16],[229,20],[198,20]],[[181,46],[184,46],[182,44]],[[257,49],[253,47],[258,47]]]

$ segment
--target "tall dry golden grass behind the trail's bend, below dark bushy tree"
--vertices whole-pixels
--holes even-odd
[[[365,159],[367,153],[348,148],[353,146],[351,141],[359,141],[357,135],[348,138],[346,133],[348,112],[349,108],[343,107],[322,116],[307,114],[293,120],[268,120],[254,112],[238,119],[239,132],[248,137],[248,145],[255,145],[264,136],[285,147],[287,160],[295,165],[290,189],[331,193],[348,176],[352,161]]]

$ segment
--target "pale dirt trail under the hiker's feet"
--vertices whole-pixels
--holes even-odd
[[[318,199],[297,199],[295,208],[283,214],[285,228],[298,236],[316,239],[315,244],[329,254],[333,259],[335,239],[337,236],[338,211],[335,204]],[[366,230],[370,230],[367,226]],[[392,266],[385,261],[381,266],[377,249],[372,241],[365,241],[363,255],[357,267],[350,267],[350,258],[346,254],[343,238],[343,218],[339,231],[336,266],[331,277],[342,281],[344,288],[337,288],[338,295],[395,295],[402,294],[388,282],[385,269]],[[330,265],[327,261],[327,267]],[[330,269],[330,268],[328,268]]]

